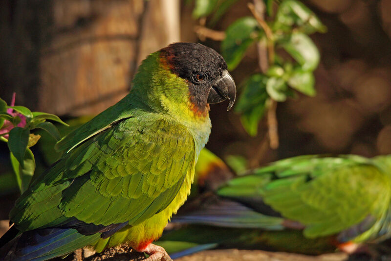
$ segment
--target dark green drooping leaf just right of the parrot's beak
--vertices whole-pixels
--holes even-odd
[[[253,74],[243,85],[243,91],[237,101],[235,111],[240,113],[240,120],[251,136],[257,135],[258,123],[265,112],[267,77],[257,73]]]

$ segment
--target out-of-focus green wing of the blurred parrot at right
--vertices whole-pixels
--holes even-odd
[[[217,193],[262,199],[283,217],[306,225],[304,236],[313,238],[341,232],[369,215],[380,219],[390,186],[387,174],[367,158],[301,156],[234,179]]]

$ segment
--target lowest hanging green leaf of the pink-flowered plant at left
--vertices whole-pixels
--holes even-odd
[[[29,148],[27,148],[23,158],[22,165],[19,164],[18,159],[14,156],[12,152],[10,152],[10,158],[11,158],[12,168],[14,169],[16,175],[16,180],[19,189],[21,190],[21,193],[23,193],[25,190],[27,190],[31,178],[34,175],[34,171],[35,171],[34,154]]]

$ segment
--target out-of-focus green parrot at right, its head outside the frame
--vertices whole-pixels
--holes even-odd
[[[173,258],[215,247],[353,253],[391,237],[391,155],[299,156],[187,202],[163,235]],[[196,233],[195,233],[196,232]]]

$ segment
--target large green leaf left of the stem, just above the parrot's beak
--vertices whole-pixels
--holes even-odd
[[[253,17],[243,17],[231,24],[225,31],[226,37],[221,42],[221,54],[228,65],[228,70],[234,70],[246,50],[260,38],[261,30]]]

